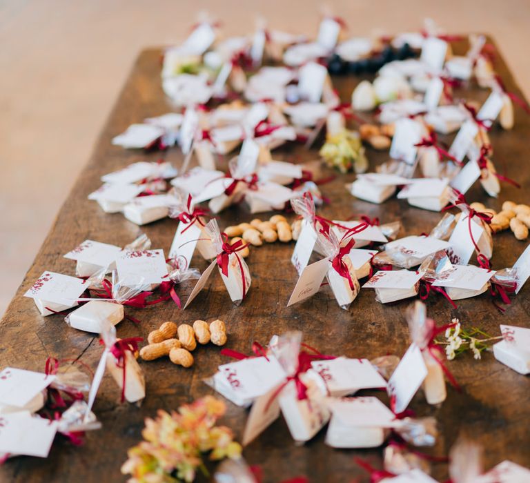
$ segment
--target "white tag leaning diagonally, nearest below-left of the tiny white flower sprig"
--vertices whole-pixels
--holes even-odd
[[[422,351],[415,344],[411,344],[386,386],[389,396],[395,398],[393,409],[395,413],[405,411],[426,375],[427,368],[423,361]]]

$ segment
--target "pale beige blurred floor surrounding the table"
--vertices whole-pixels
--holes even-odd
[[[530,0],[336,0],[352,35],[486,32],[530,94]],[[0,314],[84,166],[141,48],[177,43],[208,10],[225,34],[314,35],[318,0],[0,0]]]

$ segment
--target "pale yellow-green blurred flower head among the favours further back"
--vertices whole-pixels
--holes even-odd
[[[342,130],[335,135],[326,137],[324,146],[320,149],[320,156],[326,164],[337,168],[340,172],[364,172],[368,168],[368,161],[364,155],[364,147],[358,132]]]

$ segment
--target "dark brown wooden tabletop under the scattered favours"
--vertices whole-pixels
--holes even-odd
[[[465,46],[453,46],[456,52],[464,52]],[[0,326],[0,367],[15,366],[43,371],[47,357],[77,358],[95,368],[101,356],[98,337],[69,328],[61,315],[41,317],[32,300],[22,297],[43,270],[74,275],[75,264],[62,255],[72,247],[90,238],[123,246],[139,233],[146,233],[153,240],[153,248],[169,249],[176,223],[171,219],[157,221],[145,227],[137,227],[123,215],[104,213],[97,203],[88,201],[87,195],[100,186],[99,178],[107,172],[123,168],[135,161],[160,157],[181,164],[178,148],[162,153],[144,153],[112,146],[112,137],[123,132],[130,124],[146,117],[170,111],[160,82],[160,49],[141,52],[133,72],[117,104],[112,110],[90,161],[75,182],[72,192],[61,208],[35,262],[30,267],[23,284],[11,302]],[[520,95],[502,58],[496,60],[496,68],[507,88]],[[335,79],[343,100],[348,100],[351,90],[359,79]],[[462,91],[465,97],[484,101],[487,91],[473,88]],[[82,115],[82,113],[79,113]],[[498,169],[502,163],[508,166],[507,174],[522,184],[522,189],[504,184],[500,200],[490,199],[479,184],[467,198],[483,201],[487,206],[499,209],[502,201],[530,201],[530,170],[527,168],[527,142],[530,135],[530,118],[516,109],[516,127],[511,132],[495,126],[491,141],[495,149],[493,157]],[[387,158],[386,153],[368,150],[371,166]],[[58,156],[68,156],[57,146]],[[275,151],[275,159],[305,161],[317,159],[317,152],[305,152],[301,146],[288,146]],[[224,165],[226,167],[226,164]],[[331,173],[331,171],[330,171]],[[322,186],[331,204],[322,208],[322,215],[343,219],[352,214],[366,214],[388,222],[401,219],[402,235],[429,231],[440,219],[440,213],[412,208],[405,200],[391,199],[381,206],[365,203],[349,195],[344,183],[353,175],[339,176]],[[526,196],[525,196],[526,195]],[[43,196],[46,188],[43,186]],[[243,206],[235,206],[219,216],[224,227],[235,221],[249,221],[253,216]],[[510,232],[495,236],[493,267],[512,266],[526,247],[517,242]],[[373,290],[362,290],[349,311],[343,311],[331,295],[328,287],[308,301],[286,308],[288,297],[295,285],[297,274],[289,259],[293,244],[271,244],[253,248],[247,259],[252,274],[252,287],[242,306],[231,304],[220,277],[212,277],[204,290],[186,311],[179,311],[173,302],[151,306],[145,310],[130,310],[141,319],[135,326],[121,322],[119,337],[146,337],[161,322],[193,323],[195,319],[208,321],[220,318],[228,327],[228,347],[248,353],[255,340],[266,344],[271,335],[288,329],[304,332],[305,342],[317,347],[322,353],[349,357],[377,357],[386,353],[403,355],[409,344],[409,330],[404,314],[410,301],[382,305],[374,300]],[[193,266],[201,270],[206,262],[195,257]],[[186,299],[191,284],[181,286],[180,295]],[[530,287],[521,290],[500,314],[491,303],[489,295],[462,300],[458,310],[443,297],[431,296],[427,301],[429,315],[445,324],[451,317],[459,317],[464,326],[477,325],[489,333],[498,335],[499,324],[516,324],[530,327]],[[128,309],[129,310],[129,309]],[[104,378],[95,403],[95,413],[103,424],[101,431],[88,433],[84,446],[75,447],[57,438],[46,460],[34,457],[15,457],[0,468],[0,480],[5,482],[117,482],[124,481],[119,468],[126,460],[126,450],[141,438],[144,418],[154,416],[158,408],[172,410],[179,404],[190,402],[213,391],[203,383],[219,364],[227,362],[216,346],[197,348],[195,365],[184,369],[171,364],[168,359],[141,363],[147,381],[147,397],[141,407],[119,404],[119,390],[110,376]],[[528,426],[530,380],[495,361],[490,353],[482,361],[464,355],[447,364],[462,385],[462,392],[448,388],[447,400],[440,408],[428,406],[423,395],[418,394],[411,407],[420,416],[434,415],[440,423],[440,436],[436,446],[427,451],[433,455],[446,455],[460,433],[467,433],[484,446],[484,466],[509,459],[530,466],[530,433]],[[221,397],[221,396],[219,396]],[[224,418],[237,437],[242,434],[248,411],[227,403]],[[369,477],[354,462],[355,455],[364,457],[375,466],[381,465],[381,449],[364,451],[337,451],[324,444],[326,430],[311,442],[295,446],[282,417],[268,428],[261,437],[244,450],[250,464],[260,464],[264,482],[307,475],[311,482],[367,482]],[[446,477],[446,465],[433,466],[433,475]]]

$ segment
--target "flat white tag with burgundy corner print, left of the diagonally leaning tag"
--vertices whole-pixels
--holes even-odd
[[[352,394],[360,389],[386,387],[386,381],[368,359],[313,361],[311,367],[322,377],[332,396]]]

